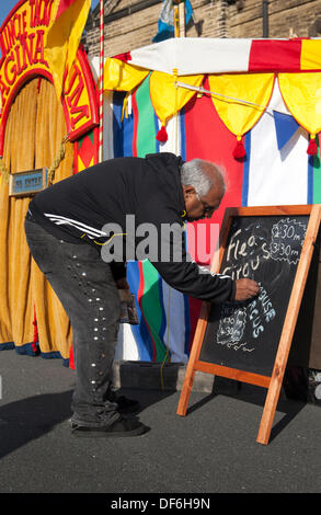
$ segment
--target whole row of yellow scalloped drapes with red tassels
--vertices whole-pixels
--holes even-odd
[[[305,43],[305,42],[302,42]],[[316,60],[314,42],[305,46],[305,67],[309,69]],[[312,62],[312,65],[311,65]],[[313,65],[314,66],[314,65]],[[176,81],[198,88],[204,75],[180,76],[150,71],[117,58],[108,58],[104,68],[104,90],[125,91],[128,94],[150,73],[150,99],[161,122],[157,139],[168,139],[165,124],[196,93],[195,90],[177,87]],[[243,158],[245,149],[242,137],[259,122],[266,110],[274,88],[275,73],[220,73],[209,75],[211,100],[218,116],[237,137],[233,156]],[[296,118],[311,135],[308,153],[317,153],[316,134],[321,131],[321,72],[279,73],[278,82],[284,101]]]

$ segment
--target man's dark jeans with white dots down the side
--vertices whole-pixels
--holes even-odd
[[[25,234],[71,323],[77,375],[72,422],[112,424],[119,416],[117,404],[108,398],[121,309],[111,266],[102,261],[99,249],[58,240],[30,215]]]

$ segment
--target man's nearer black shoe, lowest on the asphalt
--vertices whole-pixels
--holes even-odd
[[[142,435],[149,430],[146,425],[141,424],[138,420],[125,419],[119,416],[115,422],[108,426],[85,426],[81,424],[71,424],[71,432],[74,436],[81,437],[118,437],[118,436],[138,436]]]

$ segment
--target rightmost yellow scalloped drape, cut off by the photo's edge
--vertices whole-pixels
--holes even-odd
[[[279,73],[278,84],[289,112],[312,136],[321,130],[321,72]]]

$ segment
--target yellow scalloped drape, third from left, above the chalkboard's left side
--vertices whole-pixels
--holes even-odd
[[[273,91],[274,73],[209,76],[208,82],[210,91],[219,93],[218,96],[211,95],[211,100],[220,119],[232,134],[240,138],[256,124],[264,113]]]

